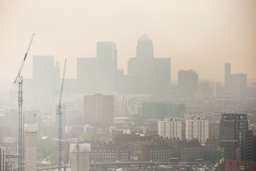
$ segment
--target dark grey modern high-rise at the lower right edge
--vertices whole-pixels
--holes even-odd
[[[222,113],[220,140],[239,141],[239,160],[253,160],[253,133],[247,114]]]

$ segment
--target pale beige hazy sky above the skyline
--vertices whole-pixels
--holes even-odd
[[[171,58],[172,79],[179,69],[224,79],[225,62],[232,73],[256,78],[255,0],[0,0],[1,80],[17,75],[32,33],[26,78],[33,55],[54,56],[61,73],[66,58],[65,78],[76,78],[76,58],[95,58],[97,41],[116,43],[118,69],[127,73],[144,33],[155,58]]]

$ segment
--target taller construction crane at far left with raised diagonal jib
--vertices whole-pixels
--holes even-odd
[[[34,38],[34,33],[32,34],[32,37],[30,39],[30,42],[29,42],[29,47],[28,49],[26,50],[26,53],[25,53],[25,57],[21,63],[21,66],[20,66],[20,69],[19,69],[19,72],[18,72],[18,75],[16,76],[16,78],[14,79],[14,82],[13,84],[16,84],[16,82],[18,82],[19,84],[19,91],[18,91],[18,102],[19,102],[19,162],[18,162],[18,171],[22,171],[23,169],[23,163],[22,163],[22,156],[23,156],[23,151],[22,151],[22,103],[23,103],[23,97],[22,97],[22,83],[23,83],[23,78],[21,76],[21,70],[23,68],[23,65],[24,65],[24,62],[26,60],[26,56],[28,55],[28,52],[29,52],[29,48],[30,48],[30,45],[32,43],[32,40]]]

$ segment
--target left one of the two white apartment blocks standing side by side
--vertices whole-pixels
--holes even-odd
[[[158,121],[158,135],[181,140],[181,120],[165,117],[163,121]]]

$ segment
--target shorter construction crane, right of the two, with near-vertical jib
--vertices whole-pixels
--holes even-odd
[[[63,71],[63,77],[62,77],[62,84],[61,84],[61,95],[58,105],[58,112],[56,114],[59,115],[59,127],[58,127],[58,171],[61,171],[61,165],[62,165],[62,123],[61,123],[61,98],[62,98],[62,90],[63,90],[63,83],[64,83],[64,77],[65,77],[65,70],[66,70],[66,62],[64,64],[64,71]]]

